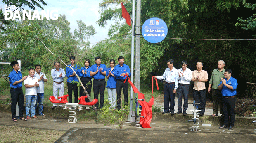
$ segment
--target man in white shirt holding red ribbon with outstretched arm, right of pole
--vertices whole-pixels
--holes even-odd
[[[178,88],[178,69],[173,67],[173,59],[167,61],[168,68],[165,69],[163,76],[153,76],[157,79],[165,79],[164,84],[164,112],[174,115],[174,97]],[[171,102],[170,106],[169,103]],[[170,111],[170,112],[169,112]]]

